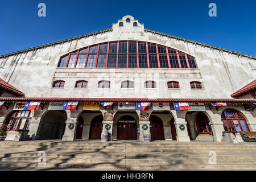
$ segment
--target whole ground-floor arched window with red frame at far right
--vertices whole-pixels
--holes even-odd
[[[241,113],[233,109],[226,109],[221,113],[225,131],[250,131],[246,119]]]

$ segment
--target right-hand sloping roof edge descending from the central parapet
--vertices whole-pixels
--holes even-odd
[[[164,33],[162,33],[162,32],[158,32],[158,31],[154,31],[154,30],[149,30],[149,29],[147,29],[147,28],[144,28],[144,32],[151,32],[152,34],[158,34],[158,35],[160,35],[160,36],[167,36],[168,38],[172,38],[172,39],[176,39],[176,40],[183,40],[184,42],[189,42],[189,43],[196,44],[196,45],[199,45],[199,46],[208,47],[208,48],[210,48],[210,49],[216,49],[216,50],[218,50],[218,51],[228,52],[228,53],[232,53],[232,54],[237,55],[237,56],[243,56],[243,57],[247,57],[247,58],[249,58],[249,59],[254,59],[254,60],[256,60],[256,57],[255,57],[255,56],[246,55],[246,54],[244,54],[244,53],[240,53],[240,52],[236,52],[236,51],[230,51],[230,50],[228,50],[228,49],[224,49],[224,48],[220,48],[220,47],[210,46],[210,45],[208,45],[208,44],[196,42],[196,41],[189,40],[189,39],[179,38],[179,37],[174,36],[174,35],[164,34]]]

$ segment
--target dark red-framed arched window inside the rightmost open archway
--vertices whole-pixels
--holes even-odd
[[[209,120],[204,113],[198,113],[196,115],[196,127],[197,132],[200,133],[211,133],[209,126]]]

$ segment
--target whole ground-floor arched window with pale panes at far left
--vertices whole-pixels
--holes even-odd
[[[17,110],[14,111],[7,119],[7,129],[11,130],[27,130],[30,125],[31,111],[30,110]]]

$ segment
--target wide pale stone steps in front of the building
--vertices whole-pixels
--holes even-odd
[[[39,151],[46,164],[39,164]],[[217,164],[209,164],[209,152]],[[158,140],[1,141],[0,169],[16,170],[256,170],[256,143]]]

